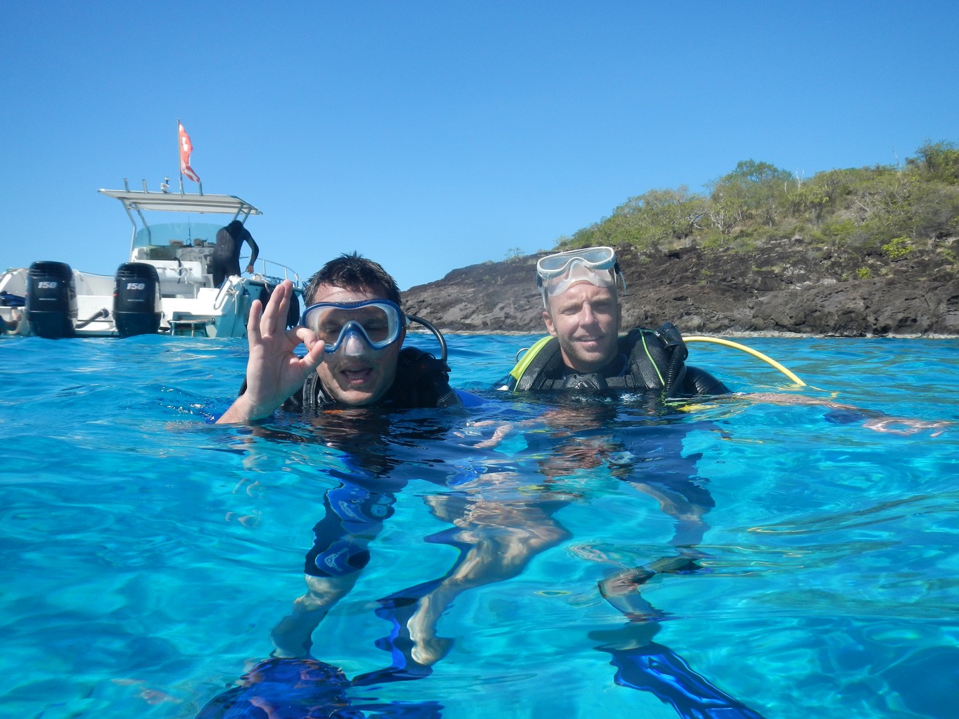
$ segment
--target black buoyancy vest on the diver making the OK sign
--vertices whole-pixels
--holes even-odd
[[[442,359],[416,347],[404,347],[396,363],[396,377],[377,406],[396,408],[461,406],[456,390],[450,386],[450,368]],[[323,389],[316,372],[282,408],[290,412],[321,412],[342,406]]]

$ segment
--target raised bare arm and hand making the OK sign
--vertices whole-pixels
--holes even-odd
[[[311,330],[285,329],[292,291],[292,282],[284,280],[273,290],[266,310],[259,300],[253,302],[246,323],[249,343],[246,392],[223,413],[217,424],[269,417],[323,361],[323,342],[318,341]],[[293,353],[300,343],[308,350],[303,358]]]

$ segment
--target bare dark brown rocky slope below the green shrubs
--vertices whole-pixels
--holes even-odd
[[[786,240],[742,251],[618,248],[624,327],[670,320],[685,334],[959,336],[959,240],[892,259]],[[538,256],[456,269],[404,292],[448,332],[543,331]]]

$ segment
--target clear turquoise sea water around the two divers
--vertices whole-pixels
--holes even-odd
[[[454,384],[472,388],[529,343],[448,341]],[[959,421],[959,340],[746,343],[812,385],[805,396]],[[690,353],[737,390],[793,391],[736,350]],[[344,447],[305,423],[209,424],[245,358],[243,340],[0,341],[0,714],[195,716],[268,658],[335,474],[380,462],[409,483],[314,634],[314,656],[348,677],[389,664],[376,600],[456,560],[424,542],[451,526],[434,498],[526,507],[549,484],[567,534],[519,576],[456,598],[439,625],[453,647],[431,676],[365,687],[364,700],[432,701],[456,718],[676,716],[614,682],[596,647],[630,630],[596,583],[676,556],[673,519],[622,479],[695,472],[715,504],[698,569],[643,585],[662,620],[632,625],[640,635],[658,629],[670,656],[766,717],[959,716],[959,430],[879,432],[830,422],[823,406],[736,399],[658,414],[567,406],[546,420],[545,406],[501,400],[466,417],[408,413]],[[467,420],[525,424],[481,449],[491,429]]]

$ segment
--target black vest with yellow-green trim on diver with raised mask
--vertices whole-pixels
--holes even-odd
[[[659,330],[638,327],[619,340],[626,358],[624,371],[614,377],[600,372],[576,373],[563,362],[559,340],[537,341],[509,373],[513,391],[550,390],[660,390],[667,396],[721,394],[725,384],[709,372],[686,364],[689,352],[683,336],[671,322]]]

